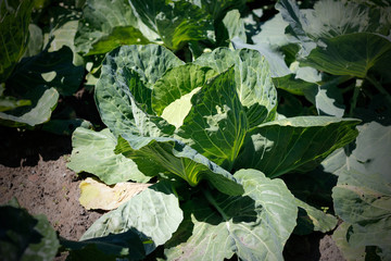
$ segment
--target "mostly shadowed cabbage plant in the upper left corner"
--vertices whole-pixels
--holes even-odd
[[[63,28],[51,24],[51,37],[43,45],[42,29],[31,23],[34,8],[35,1],[28,0],[0,3],[0,125],[40,125],[45,130],[70,134],[74,127],[68,126],[89,123],[66,112],[48,122],[60,96],[72,96],[79,88],[84,67],[74,63],[73,40],[61,42]],[[71,32],[67,28],[66,37]]]

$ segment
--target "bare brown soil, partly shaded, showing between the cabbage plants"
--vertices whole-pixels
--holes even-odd
[[[16,197],[31,214],[45,214],[61,237],[78,240],[102,214],[79,204],[81,181],[66,167],[70,136],[0,127],[0,204]],[[344,260],[330,235],[292,235],[286,260]],[[66,259],[59,254],[55,261]]]

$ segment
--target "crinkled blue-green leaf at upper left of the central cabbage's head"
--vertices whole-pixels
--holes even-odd
[[[152,85],[168,69],[181,64],[174,53],[156,45],[124,46],[108,53],[96,86],[96,102],[104,124],[115,135],[133,132],[133,105],[140,103],[139,110],[152,113]]]

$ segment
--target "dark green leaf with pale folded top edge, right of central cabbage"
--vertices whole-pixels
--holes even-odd
[[[355,139],[358,123],[353,119],[298,116],[262,124],[249,133],[236,166],[261,170],[269,177],[313,170]]]

